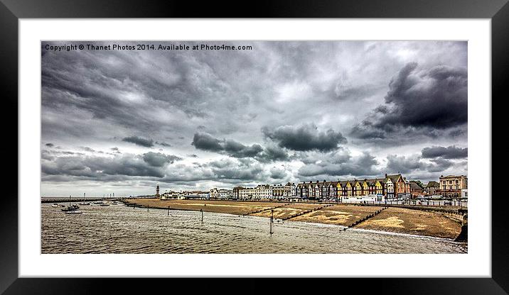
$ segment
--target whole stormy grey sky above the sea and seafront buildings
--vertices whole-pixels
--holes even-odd
[[[42,43],[43,196],[467,173],[466,42],[69,44],[138,43]]]

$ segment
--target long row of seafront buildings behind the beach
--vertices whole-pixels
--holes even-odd
[[[159,199],[215,199],[215,200],[318,200],[364,202],[364,201],[406,201],[422,195],[440,194],[445,197],[466,198],[467,178],[441,176],[440,182],[429,182],[421,187],[417,181],[407,181],[402,174],[385,174],[373,179],[347,179],[337,181],[301,182],[294,184],[259,184],[256,187],[234,187],[233,189],[213,188],[210,191],[166,191]]]

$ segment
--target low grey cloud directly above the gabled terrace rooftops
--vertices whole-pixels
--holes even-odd
[[[343,161],[343,162],[342,162]],[[299,175],[302,178],[309,177],[369,177],[380,174],[375,169],[378,162],[368,152],[358,157],[348,157],[336,161],[324,159],[316,164],[304,165],[299,169]]]

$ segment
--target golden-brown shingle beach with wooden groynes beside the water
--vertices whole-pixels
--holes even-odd
[[[381,233],[412,235],[455,240],[461,233],[461,222],[443,213],[417,208],[358,206],[352,204],[304,204],[271,201],[210,200],[122,200],[127,206],[181,211],[227,213],[238,216],[300,221],[338,226],[340,230],[374,230]],[[463,242],[461,242],[463,243]]]

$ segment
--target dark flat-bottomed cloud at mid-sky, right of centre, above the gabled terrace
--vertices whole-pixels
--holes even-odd
[[[314,124],[279,126],[274,129],[263,127],[262,133],[266,138],[277,143],[279,147],[297,151],[319,150],[327,152],[336,150],[340,143],[347,142],[341,133],[332,129],[328,129],[326,132],[318,131]]]

